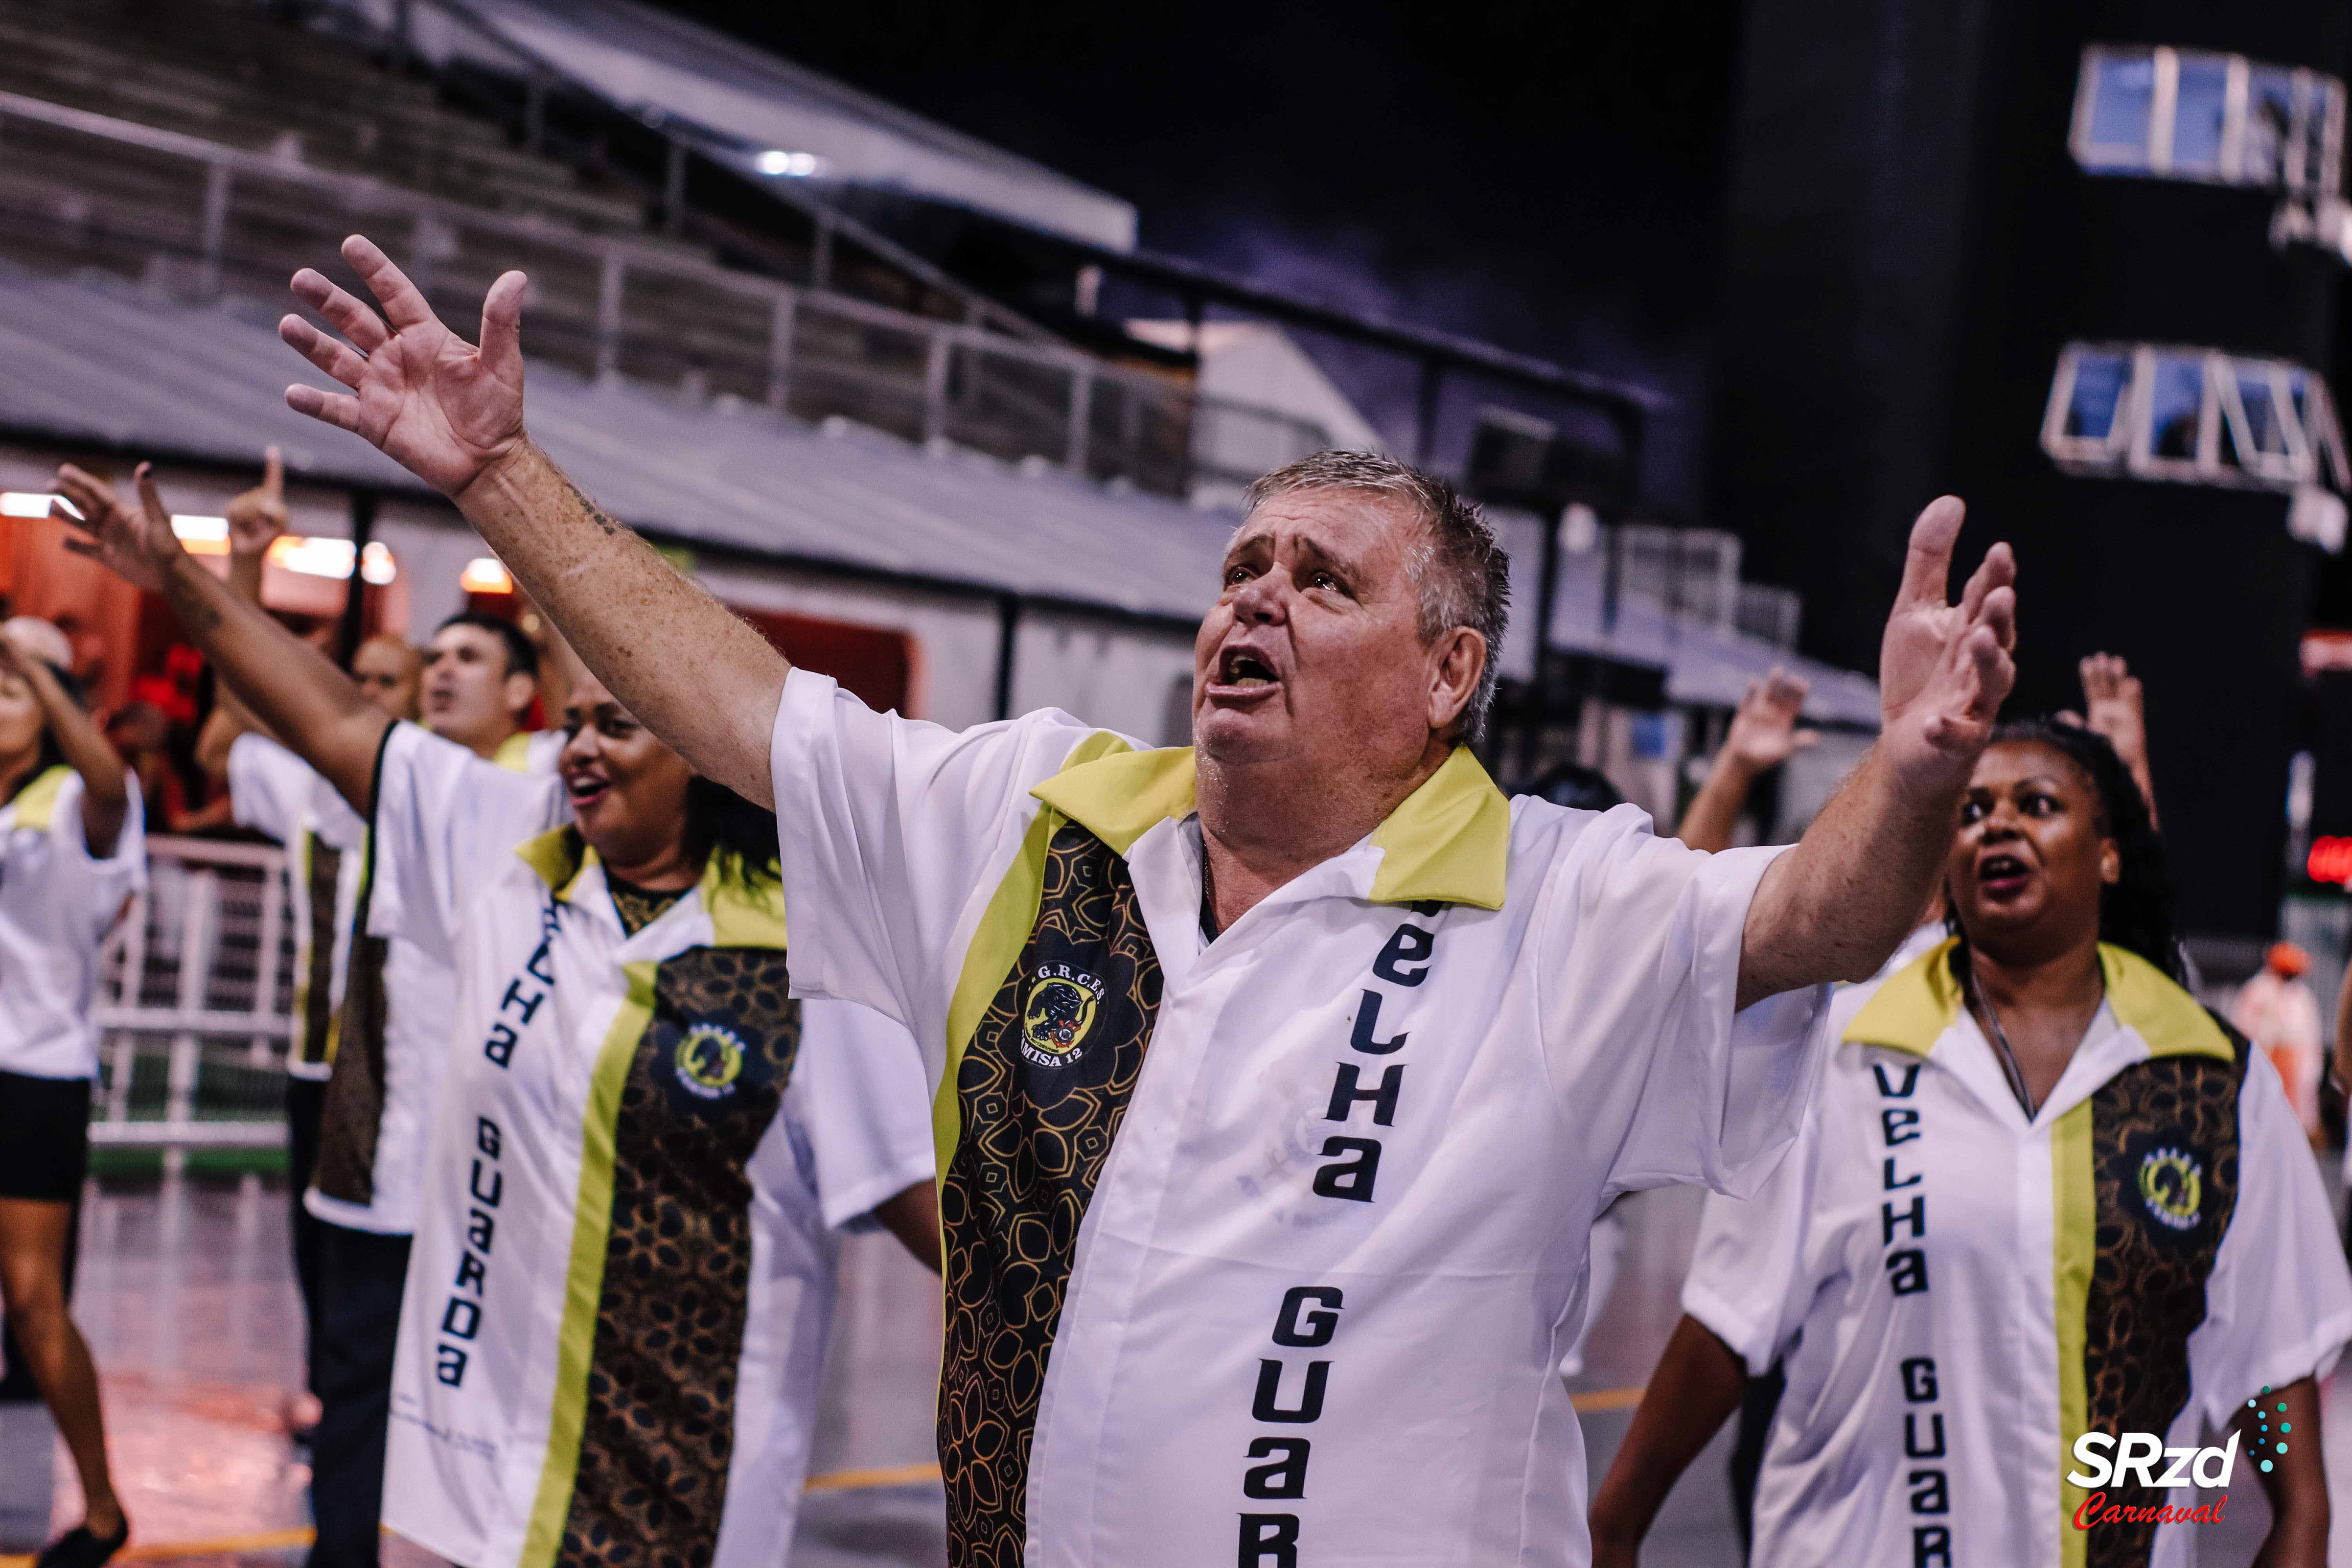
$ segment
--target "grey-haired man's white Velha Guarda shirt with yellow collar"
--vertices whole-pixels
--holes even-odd
[[[1209,943],[1188,750],[795,670],[774,790],[795,990],[938,1084],[960,1561],[1588,1561],[1592,1218],[1752,1190],[1813,1081],[1825,992],[1733,1016],[1776,851],[1461,750]]]

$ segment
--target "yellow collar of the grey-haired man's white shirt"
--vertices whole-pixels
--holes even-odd
[[[1138,752],[1110,733],[1087,736],[1070,762],[1030,790],[1124,856],[1164,820],[1192,813],[1192,748]],[[1470,748],[1454,755],[1404,797],[1371,832],[1381,870],[1374,903],[1468,903],[1503,907],[1510,863],[1510,802],[1486,778]]]

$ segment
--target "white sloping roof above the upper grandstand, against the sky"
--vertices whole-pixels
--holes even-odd
[[[395,0],[336,0],[390,26]],[[461,16],[470,14],[480,28]],[[409,5],[412,47],[435,63],[468,59],[517,71],[536,56],[600,96],[743,143],[760,174],[818,174],[971,207],[1091,244],[1134,249],[1136,209],[1044,165],[1016,158],[774,54],[635,0],[461,0]],[[501,49],[496,40],[513,45]],[[522,52],[517,59],[517,49]],[[680,129],[684,129],[680,127]],[[722,148],[713,148],[722,153]],[[800,162],[793,155],[814,158]],[[790,160],[790,162],[786,162]]]

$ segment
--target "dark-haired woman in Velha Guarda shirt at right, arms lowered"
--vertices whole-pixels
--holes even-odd
[[[1708,1199],[1595,1563],[1635,1561],[1780,1361],[1752,1563],[2180,1568],[2244,1465],[2274,1509],[2260,1561],[2319,1568],[2317,1380],[2352,1276],[2277,1072],[2176,980],[2164,846],[2114,748],[2004,724],[1945,893],[1943,945],[1832,1004],[1764,1190]]]

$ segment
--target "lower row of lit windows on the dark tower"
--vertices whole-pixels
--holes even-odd
[[[2072,473],[2303,491],[2352,487],[2326,383],[2216,348],[2072,343],[2042,447]]]

